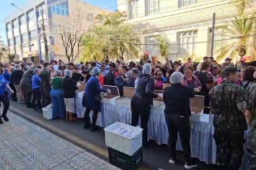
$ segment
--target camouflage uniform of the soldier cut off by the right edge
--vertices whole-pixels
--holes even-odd
[[[253,121],[248,134],[247,150],[249,153],[250,170],[256,170],[256,82],[250,82],[248,86],[244,109],[253,113]]]

